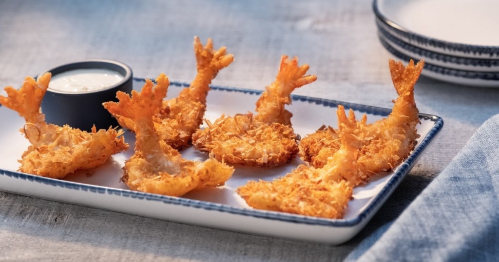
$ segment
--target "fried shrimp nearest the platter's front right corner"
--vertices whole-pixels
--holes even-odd
[[[298,166],[284,177],[250,181],[238,194],[250,207],[305,216],[342,218],[352,198],[353,185],[359,180],[357,155],[362,145],[361,125],[351,111],[346,117],[338,106],[340,148],[322,168]]]

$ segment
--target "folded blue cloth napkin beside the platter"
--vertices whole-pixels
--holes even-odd
[[[499,261],[499,115],[346,261]]]

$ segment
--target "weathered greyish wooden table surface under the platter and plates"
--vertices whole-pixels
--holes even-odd
[[[194,35],[225,45],[236,61],[213,84],[263,90],[281,54],[318,80],[295,94],[391,107],[391,55],[378,40],[369,0],[0,1],[0,86],[68,62],[105,58],[134,76],[190,82]],[[371,222],[337,247],[216,230],[0,192],[0,261],[341,261],[393,221],[499,112],[499,89],[421,77],[422,113],[441,116],[436,141]],[[8,123],[2,121],[1,125]],[[1,146],[1,145],[0,145]],[[0,159],[0,162],[2,160]]]

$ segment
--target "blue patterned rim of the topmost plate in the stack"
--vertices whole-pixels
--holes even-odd
[[[400,26],[396,22],[384,16],[378,8],[378,0],[373,0],[373,10],[374,14],[377,16],[377,18],[379,18],[380,21],[388,25],[395,34],[407,39],[409,42],[432,46],[442,50],[458,51],[475,55],[488,55],[491,58],[499,57],[499,46],[454,43],[414,33],[411,30]]]

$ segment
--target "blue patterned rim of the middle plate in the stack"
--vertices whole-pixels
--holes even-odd
[[[479,58],[460,57],[460,56],[441,54],[430,50],[422,49],[412,44],[406,43],[400,40],[399,38],[393,36],[390,32],[385,30],[385,28],[381,26],[380,23],[382,23],[382,21],[376,19],[378,30],[385,38],[412,53],[418,54],[423,57],[428,57],[434,60],[439,60],[445,63],[454,63],[460,65],[471,65],[476,67],[488,67],[488,68],[498,67],[497,70],[499,71],[499,59],[479,59]],[[481,68],[477,69],[480,70]]]

